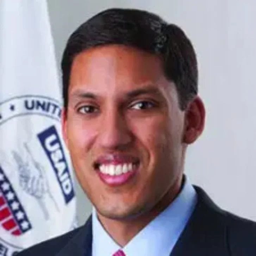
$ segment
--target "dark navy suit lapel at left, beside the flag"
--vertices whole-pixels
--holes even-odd
[[[76,235],[61,249],[56,256],[91,256],[92,255],[92,216],[80,228]]]

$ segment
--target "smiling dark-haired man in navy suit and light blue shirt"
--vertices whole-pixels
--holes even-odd
[[[256,255],[256,224],[218,208],[183,175],[205,109],[179,27],[106,10],[70,36],[62,71],[63,135],[93,213],[19,255]]]

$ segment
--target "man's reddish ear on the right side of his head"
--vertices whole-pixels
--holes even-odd
[[[183,142],[193,143],[204,130],[205,107],[199,96],[193,99],[185,110],[185,130]]]

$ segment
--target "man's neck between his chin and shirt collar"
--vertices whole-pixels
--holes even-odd
[[[124,247],[133,237],[139,233],[147,224],[158,216],[176,198],[181,190],[182,176],[177,179],[173,186],[162,199],[149,211],[136,218],[116,220],[109,219],[98,213],[98,218],[113,240]]]

